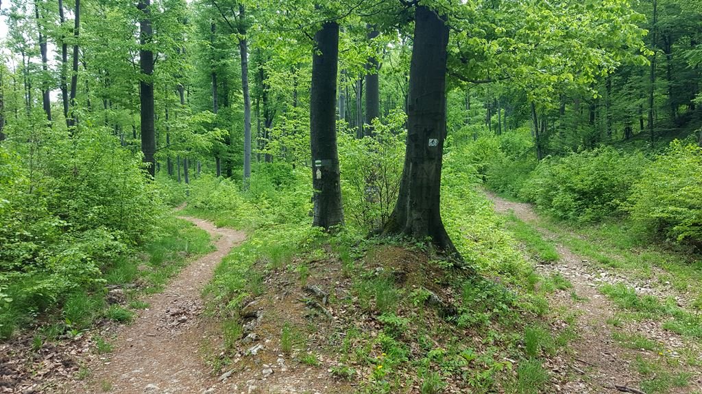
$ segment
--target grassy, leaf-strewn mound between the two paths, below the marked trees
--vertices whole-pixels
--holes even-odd
[[[444,172],[444,222],[477,274],[421,241],[366,238],[364,229],[352,225],[334,235],[313,229],[304,193],[291,198],[305,209],[281,215],[277,210],[286,208],[274,201],[290,196],[295,186],[256,194],[228,182],[194,182],[203,189],[191,190],[198,203],[188,213],[249,230],[246,242],[223,259],[204,290],[224,337],[223,357],[212,356],[220,351],[210,349],[207,362],[220,371],[246,351],[239,343],[246,324],[241,309],[249,302],[315,285],[330,294],[326,309],[345,311],[335,314],[331,328],[320,322],[324,313],[309,295],[296,302],[316,311],[314,318],[306,313],[298,316],[304,320],[265,322],[264,317],[263,324],[279,333],[273,342],[280,353],[339,382],[354,382],[357,393],[397,393],[408,385],[423,393],[448,388],[538,393],[549,380],[545,360],[576,338],[569,325],[549,324],[558,313],[545,296],[571,284],[534,272],[517,249],[519,241],[503,230],[504,220],[475,188],[475,171],[458,167],[456,157],[447,160]],[[335,292],[337,287],[345,291]],[[322,340],[299,339],[313,333]],[[306,350],[296,353],[299,347]]]

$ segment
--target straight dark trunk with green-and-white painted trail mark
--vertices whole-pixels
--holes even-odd
[[[330,229],[343,225],[339,158],[336,147],[336,73],[339,25],[325,22],[314,35],[312,88],[310,90],[310,142],[312,147],[312,226]]]

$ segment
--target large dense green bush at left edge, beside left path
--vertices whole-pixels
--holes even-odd
[[[140,155],[111,133],[14,136],[0,147],[1,337],[71,294],[102,291],[103,271],[153,238],[166,212]]]

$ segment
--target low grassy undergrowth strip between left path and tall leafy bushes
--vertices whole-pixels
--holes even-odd
[[[65,293],[52,293],[56,274],[29,271],[12,275],[0,312],[0,337],[13,337],[20,328],[36,326],[36,336],[55,340],[63,334],[77,335],[96,320],[131,322],[133,310],[143,308],[140,294],[161,290],[193,257],[213,250],[206,231],[183,219],[168,217],[158,235],[142,247],[124,250],[100,264],[95,278],[69,285]],[[107,290],[122,288],[126,306],[108,304]]]

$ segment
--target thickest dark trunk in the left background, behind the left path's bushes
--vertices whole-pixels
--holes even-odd
[[[146,46],[151,42],[153,29],[151,26],[151,0],[139,0],[138,8],[143,13],[140,20],[139,40],[139,67],[141,78],[139,81],[141,103],[141,151],[144,154],[144,163],[147,163],[149,175],[156,174],[156,130],[154,127],[154,53]]]

